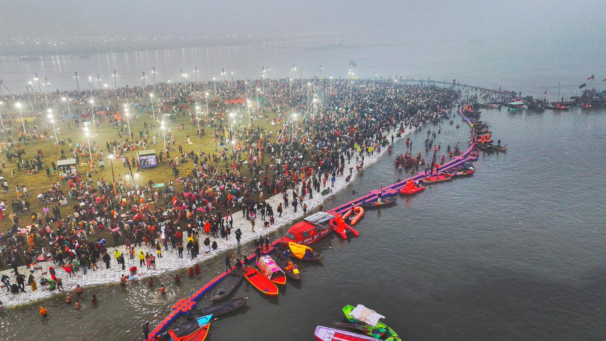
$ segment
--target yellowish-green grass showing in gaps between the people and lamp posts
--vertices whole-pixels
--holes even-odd
[[[120,104],[119,107],[122,107],[122,104]],[[74,110],[75,108],[72,107],[72,110]],[[192,104],[190,106],[190,108],[192,111],[195,110],[194,105]],[[156,115],[158,115],[158,108],[156,107]],[[187,110],[187,109],[186,109]],[[53,112],[57,112],[56,109],[53,109]],[[194,111],[195,112],[195,111]],[[238,124],[248,124],[248,115],[247,115],[247,110],[243,109],[241,110],[241,121],[238,122]],[[255,115],[255,113],[253,113],[253,110],[251,110],[251,115]],[[277,115],[275,113],[267,113],[266,115],[268,116],[268,118],[259,118],[258,120],[253,121],[253,125],[256,126],[260,126],[266,129],[273,129],[274,132],[274,136],[277,135],[276,131],[278,129],[280,129],[281,126],[271,126],[271,118],[276,117]],[[229,117],[229,116],[227,116]],[[142,130],[144,127],[144,123],[147,122],[147,124],[150,124],[153,121],[152,118],[152,114],[151,114],[151,110],[149,110],[149,113],[144,113],[144,114],[139,114],[138,115],[138,120],[135,119],[131,119],[130,120],[130,129],[133,132],[133,140],[135,141],[139,141],[142,140],[141,138],[139,138],[139,130]],[[39,128],[41,129],[42,132],[44,132],[45,130],[48,130],[49,132],[52,131],[52,127],[48,126],[48,120],[46,120],[45,116],[41,116],[38,118],[38,122],[39,122]],[[68,123],[70,123],[71,129],[68,129]],[[6,121],[5,121],[5,124]],[[13,120],[13,138],[16,138],[17,132],[16,132],[16,126],[20,126],[21,125],[21,121],[20,120]],[[177,124],[181,124],[184,126],[184,129],[179,129],[177,130]],[[196,128],[194,126],[192,126],[191,121],[190,121],[190,115],[185,112],[185,115],[182,115],[182,112],[179,112],[178,118],[176,120],[176,122],[170,122],[170,121],[166,121],[165,122],[165,126],[167,126],[168,129],[171,130],[171,132],[173,133],[173,136],[175,136],[175,141],[176,144],[172,147],[175,147],[176,152],[172,152],[171,153],[171,158],[174,159],[175,155],[178,154],[178,146],[179,144],[181,144],[181,146],[183,147],[184,152],[189,152],[190,150],[193,150],[195,152],[198,151],[198,149],[207,152],[207,154],[211,155],[214,152],[214,145],[215,143],[218,143],[217,141],[213,141],[213,127],[206,127],[205,128],[205,135],[203,137],[198,137],[196,136]],[[28,130],[31,129],[33,126],[32,124],[30,124],[30,127],[28,127]],[[76,146],[76,143],[81,142],[83,143],[85,146],[87,145],[87,139],[84,135],[84,130],[82,129],[77,129],[75,127],[75,123],[74,120],[70,120],[70,122],[68,122],[68,120],[63,120],[63,121],[59,121],[58,124],[56,124],[56,127],[60,128],[60,132],[58,135],[58,138],[64,138],[65,139],[65,146],[62,146],[62,149],[65,150],[65,154],[69,155],[69,146],[68,146],[68,138],[72,139],[72,144],[73,146]],[[202,126],[201,126],[202,127]],[[158,127],[159,129],[159,127]],[[151,135],[153,135],[155,129],[150,129],[150,137],[148,137],[148,143],[151,143]],[[185,138],[187,137],[187,134],[190,134],[191,137],[191,142],[193,144],[185,144]],[[278,131],[279,133],[279,131]],[[164,144],[162,141],[162,132],[161,130],[159,130],[158,132],[159,136],[157,138],[157,144],[153,145],[150,144],[147,149],[155,149],[156,154],[158,154],[163,148],[164,148]],[[125,136],[125,135],[123,135]],[[98,125],[97,127],[97,135],[94,137],[90,138],[91,143],[96,143],[98,144],[98,146],[103,150],[104,152],[104,158],[107,158],[107,156],[110,154],[109,152],[107,152],[107,148],[105,147],[105,141],[113,141],[114,139],[121,141],[118,137],[118,130],[114,129],[112,126],[112,123],[101,123]],[[4,139],[5,140],[5,139]],[[168,145],[168,135],[167,135],[167,145]],[[55,146],[55,138],[47,138],[44,141],[41,140],[37,140],[37,141],[30,141],[27,143],[27,147],[25,149],[25,155],[24,158],[33,160],[33,158],[35,158],[36,155],[36,151],[38,149],[41,149],[44,152],[44,158],[42,158],[42,161],[44,162],[45,166],[50,166],[51,161],[56,161],[59,158],[59,149]],[[138,150],[131,150],[125,153],[125,155],[128,158],[132,158],[135,157],[137,152],[139,150],[142,150],[142,147],[138,147]],[[215,154],[218,154],[218,152],[214,152]],[[4,172],[2,173],[2,175],[7,178],[8,180],[8,187],[10,192],[9,193],[4,193],[2,192],[2,195],[0,196],[0,198],[2,200],[4,200],[5,202],[7,202],[7,204],[10,205],[10,202],[12,200],[16,200],[17,199],[17,195],[16,195],[16,191],[15,191],[15,186],[19,185],[21,186],[21,184],[25,184],[28,188],[28,192],[29,192],[29,198],[28,201],[30,202],[30,208],[32,212],[41,212],[42,213],[42,209],[44,208],[44,204],[42,204],[38,198],[36,198],[36,196],[39,193],[42,193],[44,191],[46,191],[47,189],[50,189],[50,187],[52,186],[52,184],[56,181],[59,181],[59,175],[58,172],[52,172],[52,178],[48,178],[45,170],[42,170],[41,172],[39,172],[38,174],[27,174],[24,170],[22,170],[21,172],[17,172],[17,168],[15,166],[15,159],[13,159],[13,163],[9,164],[7,161],[7,158],[5,157],[4,153],[2,155],[4,157],[5,163],[6,163],[6,167],[3,169]],[[242,150],[242,160],[244,160],[245,158],[248,157],[248,154],[245,152],[245,150]],[[88,161],[88,156],[81,158],[81,161]],[[212,165],[212,163],[210,163]],[[187,170],[188,168],[191,169],[191,167],[193,166],[193,164],[191,163],[191,161],[189,161],[188,163],[182,164],[179,163],[178,169],[180,171],[179,176],[185,176],[185,170]],[[10,171],[12,169],[15,169],[16,175],[14,178],[10,178]],[[84,165],[84,166],[79,166],[78,170],[79,170],[79,175],[81,177],[82,180],[86,179],[86,173],[90,168],[88,167],[88,165]],[[113,169],[114,169],[114,174],[116,177],[116,181],[118,181],[118,178],[122,178],[122,180],[125,179],[125,174],[128,172],[128,168],[123,167],[122,165],[122,161],[121,160],[115,160],[113,161]],[[136,168],[133,168],[133,174],[136,174]],[[247,167],[244,167],[242,169],[242,175],[247,176]],[[104,170],[100,170],[98,167],[98,172],[97,174],[93,174],[93,183],[94,186],[96,186],[96,181],[97,179],[105,179],[105,181],[111,181],[112,180],[112,166],[110,164],[109,160],[105,160],[105,169]],[[146,184],[148,183],[149,180],[153,180],[154,183],[168,183],[168,181],[170,180],[175,180],[175,177],[173,177],[172,172],[171,172],[171,168],[170,166],[168,166],[167,162],[163,162],[161,164],[158,165],[158,167],[156,168],[152,168],[152,169],[142,169],[138,175],[135,175],[135,182],[139,183],[139,184]],[[176,187],[176,191],[182,191],[182,186],[180,186],[181,183],[179,182],[175,182],[175,187]],[[68,186],[64,185],[62,186],[62,189],[64,189],[64,192],[67,193],[67,189]],[[23,198],[23,197],[21,197]],[[76,201],[75,200],[68,200],[68,205],[67,206],[61,206],[61,215],[62,217],[65,217],[65,215],[70,214],[73,212],[73,204],[75,204]],[[49,207],[50,209],[52,209],[52,207]],[[7,216],[4,218],[4,220],[0,223],[2,225],[2,230],[6,231],[7,229],[9,229],[12,226],[12,222],[10,221],[10,219],[8,218],[8,214],[12,211],[12,208],[7,209],[7,211],[5,211],[5,213],[7,214]],[[31,220],[30,220],[30,214],[28,212],[25,212],[25,214],[21,215],[21,217],[19,217],[21,220],[21,227],[23,227],[24,225],[28,225]]]

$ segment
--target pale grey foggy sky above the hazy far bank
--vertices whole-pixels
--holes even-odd
[[[394,39],[606,41],[606,1],[6,0],[0,35],[384,31]]]

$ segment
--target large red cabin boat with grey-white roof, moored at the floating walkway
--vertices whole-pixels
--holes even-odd
[[[334,215],[327,212],[317,212],[312,214],[300,223],[291,226],[282,237],[280,243],[288,245],[288,243],[298,243],[302,245],[310,245],[320,240],[320,238],[333,232],[333,227],[328,224],[328,221],[335,218]]]

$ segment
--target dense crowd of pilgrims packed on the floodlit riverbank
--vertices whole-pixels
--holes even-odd
[[[28,169],[46,168],[50,177],[49,170],[56,169],[58,160],[75,158],[87,172],[81,177],[53,180],[38,195],[44,206],[42,212],[30,211],[30,195],[23,194],[27,187],[17,187],[11,226],[0,235],[0,262],[13,268],[18,288],[22,291],[24,282],[18,272],[20,265],[30,266],[27,282],[35,290],[32,283],[36,280],[49,288],[58,286],[55,278],[36,279],[39,275],[34,271],[39,262],[44,262],[44,268],[61,266],[63,277],[68,276],[64,280],[70,280],[75,271],[83,275],[88,270],[104,271],[112,263],[124,269],[125,257],[138,258],[140,266],[148,269],[155,269],[156,262],[162,262],[162,252],[175,252],[182,258],[187,249],[188,257],[195,258],[201,249],[218,249],[216,241],[228,238],[232,230],[239,242],[242,229],[255,231],[256,220],[268,226],[273,225],[275,214],[280,216],[285,209],[296,211],[299,207],[306,211],[305,200],[330,190],[336,177],[351,177],[353,169],[361,171],[364,158],[393,143],[393,135],[444,116],[461,95],[459,90],[442,87],[376,81],[356,81],[348,91],[333,92],[338,84],[329,84],[328,79],[313,79],[311,86],[283,79],[273,81],[271,87],[265,84],[264,101],[257,101],[251,110],[238,99],[246,98],[249,83],[254,82],[223,83],[213,93],[210,110],[203,118],[192,106],[208,100],[205,94],[206,89],[212,89],[210,83],[99,92],[96,95],[105,95],[108,101],[99,107],[104,114],[95,114],[96,125],[111,126],[116,134],[104,142],[93,137],[89,144],[79,133],[69,133],[72,124],[81,126],[85,120],[82,117],[90,114],[88,108],[70,109],[72,115],[82,116],[66,116],[69,129],[62,135],[67,138],[56,141],[56,155],[45,157],[40,151],[35,160],[26,163],[30,164]],[[260,82],[256,81],[257,87]],[[167,98],[162,101],[166,103],[154,109],[158,110],[155,121],[147,122],[148,115],[133,115],[133,120],[144,122],[139,133],[132,133],[126,116],[118,113],[119,103],[127,98],[141,103],[152,90],[158,97]],[[4,100],[16,101],[18,97]],[[36,93],[35,97],[34,106],[39,110],[59,107],[62,115],[68,115],[62,98],[85,103],[90,94],[72,91]],[[148,112],[148,106],[141,107]],[[107,112],[112,114],[106,115]],[[269,116],[273,116],[269,129],[255,124],[256,120],[269,120]],[[159,129],[165,120],[173,120],[173,124],[188,121],[176,124],[176,129],[191,133],[184,141],[177,141],[173,130]],[[252,124],[248,124],[249,120]],[[34,137],[17,124],[12,128],[18,130],[18,140],[13,138],[10,127],[1,132],[3,140],[10,143],[5,146],[2,142],[2,151],[7,154],[8,147],[25,150],[30,141],[36,140],[36,134],[48,135],[42,124],[35,123],[30,130],[35,132]],[[191,146],[190,135],[208,135],[205,138],[212,138],[213,150]],[[170,168],[176,180],[155,187],[156,182],[165,179],[136,183],[127,178],[140,167],[127,152],[143,150],[150,144],[164,146],[161,139],[165,139],[166,148],[156,147],[161,149],[157,155],[159,167]],[[118,169],[115,181],[95,178],[108,156]],[[24,162],[23,157],[10,160],[9,167]],[[18,171],[27,171],[25,168]],[[266,201],[272,195],[281,195],[284,203],[272,207]],[[236,211],[241,211],[250,226],[233,225]],[[105,240],[108,235],[110,241]],[[111,255],[110,244],[125,245],[128,254]],[[98,267],[99,260],[105,266]]]

